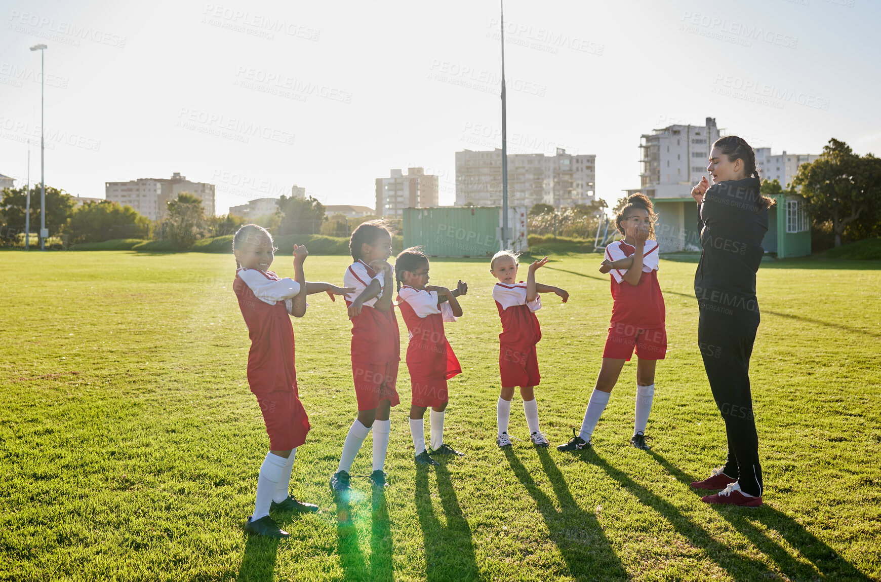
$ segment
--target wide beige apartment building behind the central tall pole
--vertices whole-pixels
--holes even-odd
[[[589,204],[596,200],[596,155],[573,155],[557,148],[544,153],[509,153],[507,156],[508,205],[531,208],[548,204],[556,208]],[[455,153],[455,205],[501,205],[501,150]]]

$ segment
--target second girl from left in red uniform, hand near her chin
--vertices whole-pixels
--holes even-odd
[[[361,224],[349,241],[354,262],[345,270],[343,284],[352,287],[345,296],[352,319],[352,377],[358,399],[358,418],[345,437],[337,472],[330,478],[335,494],[351,488],[349,469],[361,444],[374,432],[373,473],[376,487],[385,487],[386,451],[389,449],[391,407],[400,402],[395,389],[401,360],[401,338],[391,299],[391,233],[381,221]]]

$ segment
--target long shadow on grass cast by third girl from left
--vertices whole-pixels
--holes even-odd
[[[472,580],[478,578],[478,563],[474,557],[471,528],[459,507],[453,483],[444,466],[435,466],[438,494],[447,526],[434,515],[428,473],[424,468],[416,472],[416,512],[426,546],[426,579]]]

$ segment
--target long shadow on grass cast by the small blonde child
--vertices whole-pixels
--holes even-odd
[[[537,449],[538,458],[542,461],[544,473],[551,480],[560,512],[552,498],[538,487],[511,447],[506,447],[504,451],[517,479],[536,501],[538,511],[541,511],[544,518],[544,525],[566,560],[569,573],[578,579],[627,579],[627,572],[606,539],[603,528],[596,521],[596,516],[582,510],[575,502],[563,474],[559,472],[547,449]]]

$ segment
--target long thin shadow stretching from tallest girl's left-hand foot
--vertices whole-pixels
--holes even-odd
[[[657,511],[670,522],[679,535],[687,538],[693,545],[702,548],[707,557],[717,563],[722,570],[727,571],[732,578],[736,580],[777,578],[776,572],[768,569],[765,563],[740,556],[721,542],[716,541],[703,527],[686,518],[675,505],[633,481],[626,473],[599,457],[596,452],[581,453],[581,460],[603,469],[613,480],[618,481],[618,485],[639,499],[641,504]]]

